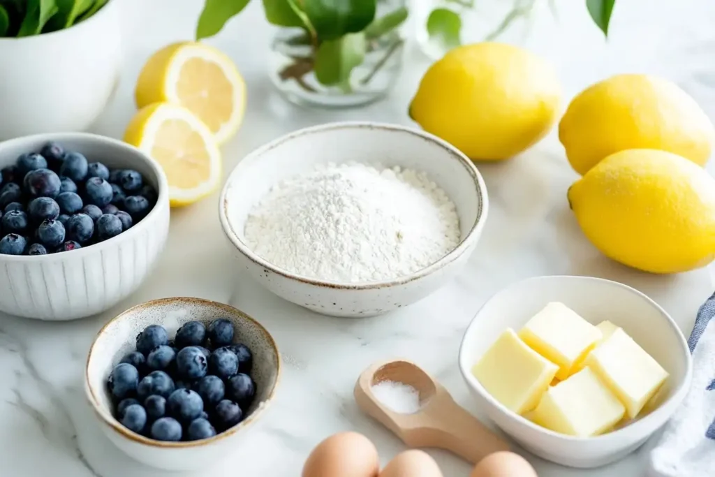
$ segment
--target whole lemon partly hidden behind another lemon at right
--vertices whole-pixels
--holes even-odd
[[[571,167],[586,174],[623,149],[661,149],[704,165],[715,129],[686,92],[666,79],[618,74],[576,96],[558,124]]]

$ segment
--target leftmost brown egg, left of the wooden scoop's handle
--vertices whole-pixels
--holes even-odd
[[[362,434],[344,432],[317,445],[303,466],[302,477],[377,477],[380,458]]]

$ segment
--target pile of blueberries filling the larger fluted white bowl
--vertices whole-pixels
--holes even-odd
[[[49,142],[0,170],[0,254],[45,255],[102,242],[142,220],[157,192],[132,169],[110,170]]]

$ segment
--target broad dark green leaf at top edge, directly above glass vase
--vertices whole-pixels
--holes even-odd
[[[376,0],[302,0],[320,41],[358,33],[375,19]]]

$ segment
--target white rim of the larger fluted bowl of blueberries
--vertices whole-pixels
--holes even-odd
[[[152,159],[149,154],[146,154],[141,149],[132,146],[132,144],[127,144],[126,142],[119,141],[119,139],[114,139],[112,137],[102,136],[100,134],[93,134],[90,132],[53,132],[49,134],[31,134],[29,136],[16,137],[14,139],[8,139],[6,141],[0,142],[0,155],[4,153],[4,149],[9,147],[14,147],[18,144],[23,144],[25,142],[63,142],[63,141],[78,141],[78,142],[97,142],[102,145],[112,145],[123,149],[123,154],[134,154],[140,157],[144,162],[149,165],[152,169],[154,177],[157,179],[157,203],[152,207],[146,217],[139,220],[136,225],[127,230],[127,232],[122,232],[119,235],[104,240],[103,242],[94,243],[87,247],[81,247],[75,250],[67,250],[66,252],[61,252],[61,254],[49,253],[47,255],[0,255],[0,261],[2,262],[56,262],[64,260],[66,258],[79,258],[83,255],[88,255],[94,252],[102,252],[113,245],[117,245],[120,240],[130,240],[132,237],[139,235],[142,232],[146,232],[147,228],[159,215],[161,215],[164,209],[164,204],[168,208],[169,206],[169,185],[167,182],[167,176],[164,174],[164,169],[159,165],[157,161]]]

